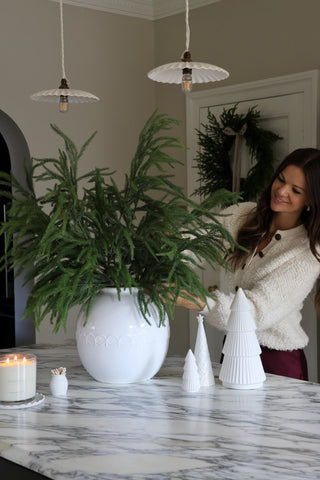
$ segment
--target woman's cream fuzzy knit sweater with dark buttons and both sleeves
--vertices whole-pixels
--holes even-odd
[[[222,223],[236,238],[254,203],[233,205],[223,213]],[[303,348],[308,337],[301,328],[303,301],[320,275],[320,263],[313,256],[303,225],[278,230],[260,255],[247,260],[235,273],[221,272],[216,302],[208,300],[205,320],[226,330],[236,287],[241,287],[252,305],[260,345],[277,350]]]

